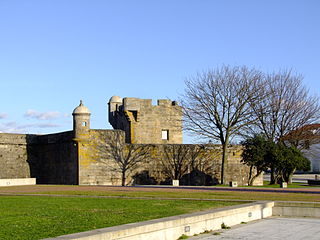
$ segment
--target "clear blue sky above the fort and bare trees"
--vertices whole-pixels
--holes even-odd
[[[320,88],[318,0],[0,0],[0,131],[72,128],[83,99],[177,99],[197,71],[292,68]]]

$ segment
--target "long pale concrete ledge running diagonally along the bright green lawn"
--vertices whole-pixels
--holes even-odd
[[[274,202],[241,204],[48,239],[175,240],[182,234],[192,236],[206,230],[211,231],[220,229],[222,223],[227,226],[233,226],[240,224],[241,222],[249,222],[270,217],[272,216],[273,206]]]

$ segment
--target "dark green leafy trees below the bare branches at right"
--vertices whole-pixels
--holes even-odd
[[[242,145],[242,162],[250,166],[249,185],[262,171],[269,168],[274,170],[274,183],[290,182],[295,170],[310,170],[309,160],[294,146],[275,143],[263,135],[248,138]],[[257,169],[256,175],[252,174],[253,167]]]

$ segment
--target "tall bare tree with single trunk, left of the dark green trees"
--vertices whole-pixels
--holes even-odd
[[[248,67],[223,66],[186,80],[182,96],[185,129],[222,144],[221,183],[233,136],[256,119],[250,107],[261,97],[262,74]]]

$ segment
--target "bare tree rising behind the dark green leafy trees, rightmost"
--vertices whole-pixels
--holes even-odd
[[[265,76],[265,97],[251,104],[258,119],[253,131],[263,133],[274,142],[288,140],[290,133],[319,120],[320,106],[316,96],[310,96],[302,85],[303,77],[284,70]],[[292,136],[292,134],[291,134]],[[291,138],[292,142],[293,138]],[[275,182],[271,166],[271,184]]]

